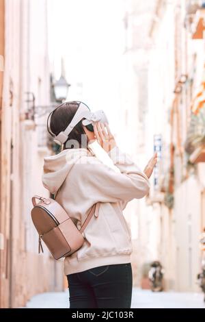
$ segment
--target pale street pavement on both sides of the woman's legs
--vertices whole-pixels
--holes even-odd
[[[27,302],[25,308],[68,308],[68,293],[42,293]],[[133,288],[131,308],[205,308],[202,293],[152,293]]]

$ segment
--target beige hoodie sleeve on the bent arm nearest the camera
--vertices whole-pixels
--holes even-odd
[[[88,158],[88,162],[79,167],[78,174],[85,184],[87,195],[92,196],[94,202],[122,201],[123,207],[132,199],[146,196],[150,189],[149,179],[130,156],[118,147],[114,147],[109,156],[120,173],[96,157]]]

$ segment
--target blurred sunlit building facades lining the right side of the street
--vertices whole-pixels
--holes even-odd
[[[121,108],[124,130],[133,138],[125,146],[141,167],[154,151],[159,156],[146,203],[131,203],[127,209],[135,236],[135,283],[141,284],[152,260],[160,260],[165,290],[199,291],[199,236],[205,220],[205,4],[124,2],[128,73],[123,79],[128,90]]]

